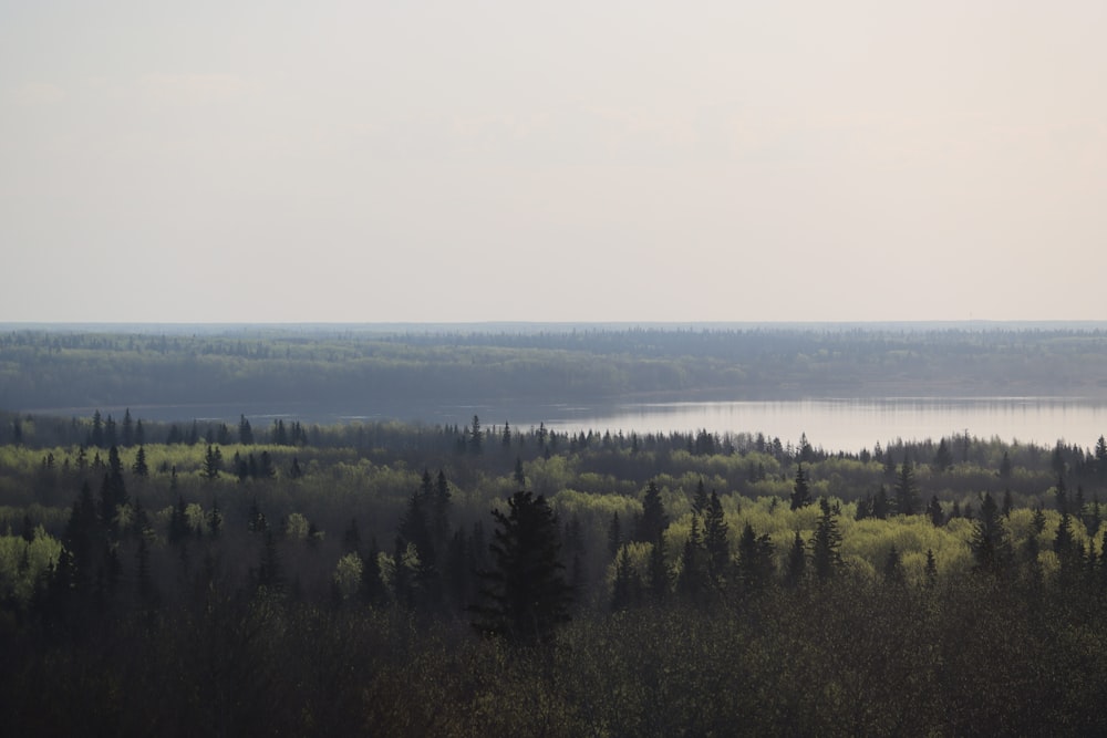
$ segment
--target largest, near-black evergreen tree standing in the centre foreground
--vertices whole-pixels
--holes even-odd
[[[473,607],[482,633],[521,643],[547,641],[569,620],[572,593],[565,581],[557,518],[541,495],[519,491],[506,513],[494,509],[493,569],[480,572],[482,604]]]

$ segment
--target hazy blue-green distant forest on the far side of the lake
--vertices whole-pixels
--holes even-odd
[[[1107,393],[1107,333],[1036,329],[702,329],[0,335],[0,407],[266,404],[401,408],[680,393]],[[358,410],[362,412],[362,410]]]

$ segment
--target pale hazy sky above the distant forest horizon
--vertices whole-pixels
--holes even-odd
[[[0,0],[0,321],[1105,319],[1107,2]]]

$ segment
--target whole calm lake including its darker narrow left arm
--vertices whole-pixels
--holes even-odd
[[[90,417],[94,408],[46,410],[54,415]],[[106,415],[122,417],[125,408],[104,407]],[[321,408],[310,404],[286,406],[138,406],[135,417],[177,422],[188,418],[237,424],[245,413],[256,429],[267,428],[276,418],[302,423],[349,423],[399,419],[431,425],[467,426],[480,417],[486,429],[503,427],[507,420],[526,429],[545,423],[559,432],[596,430],[612,434],[697,432],[764,433],[785,444],[807,434],[813,446],[828,451],[858,451],[889,440],[938,439],[966,430],[980,438],[997,436],[1005,441],[1035,443],[1052,447],[1057,439],[1095,446],[1107,434],[1107,401],[1074,397],[887,397],[813,398],[794,401],[671,402],[609,404],[438,404],[426,407]]]

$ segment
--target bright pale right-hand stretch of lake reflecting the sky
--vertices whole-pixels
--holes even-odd
[[[764,433],[784,443],[806,433],[813,446],[860,450],[889,440],[941,438],[966,430],[1006,441],[1095,446],[1107,434],[1107,402],[1056,397],[803,399],[618,405],[596,412],[555,408],[558,430]]]

